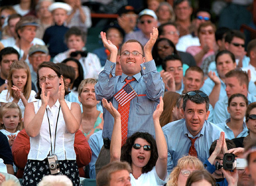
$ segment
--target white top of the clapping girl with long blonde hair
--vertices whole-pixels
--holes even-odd
[[[8,90],[3,90],[0,93],[0,102],[9,103],[9,102],[13,101],[13,99],[14,99],[13,97],[10,97],[9,99],[6,99],[7,92],[8,92]],[[28,99],[28,103],[37,101],[37,99],[35,99],[35,94],[36,94],[35,91],[31,90],[31,93],[30,93],[30,96],[29,96],[29,99]],[[8,94],[7,98],[8,97],[9,97],[9,94]],[[21,99],[18,101],[17,104],[20,107],[20,110],[21,110],[21,113],[22,113],[22,117],[23,117],[24,116],[25,107],[24,107],[24,104],[21,101]]]

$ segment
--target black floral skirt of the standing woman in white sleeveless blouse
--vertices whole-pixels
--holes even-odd
[[[36,186],[45,175],[51,174],[48,166],[47,158],[42,161],[28,160],[24,169],[22,186]],[[79,186],[79,170],[76,160],[59,161],[59,167],[58,175],[66,175],[73,182],[73,186]]]

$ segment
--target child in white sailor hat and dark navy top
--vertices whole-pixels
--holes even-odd
[[[53,58],[67,50],[67,45],[64,43],[64,35],[69,28],[64,26],[64,22],[67,20],[67,14],[72,10],[72,7],[67,3],[58,2],[52,3],[48,9],[52,12],[55,25],[45,30],[43,40]]]

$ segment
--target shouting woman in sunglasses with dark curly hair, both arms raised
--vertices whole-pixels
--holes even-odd
[[[102,99],[103,106],[114,117],[110,155],[112,161],[127,161],[131,165],[132,186],[164,185],[167,173],[167,144],[159,118],[163,112],[163,99],[153,113],[155,138],[147,132],[136,132],[126,140],[121,152],[121,116],[112,103]]]

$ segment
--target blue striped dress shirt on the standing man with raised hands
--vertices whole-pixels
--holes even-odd
[[[152,115],[159,104],[160,96],[164,93],[164,83],[157,72],[154,60],[144,62],[141,65],[140,73],[133,77],[136,79],[130,82],[131,87],[138,96],[134,97],[130,103],[128,118],[128,137],[135,132],[148,132],[155,136]],[[99,74],[99,82],[95,85],[96,99],[101,101],[103,98],[111,101],[113,106],[118,109],[118,102],[113,96],[125,85],[125,78],[128,76],[115,76],[116,63],[106,61],[104,70]],[[110,73],[113,77],[109,78]],[[114,118],[103,108],[104,127],[103,138],[111,139]]]

